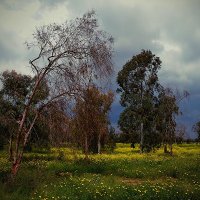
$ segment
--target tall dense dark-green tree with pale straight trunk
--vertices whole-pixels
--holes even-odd
[[[160,67],[159,57],[149,50],[142,50],[123,66],[117,77],[120,103],[125,107],[119,125],[122,130],[135,133],[135,137],[139,134],[141,152],[145,147],[144,142],[148,146],[148,133],[155,132],[154,123],[150,121],[154,120],[154,108],[161,89],[157,76]]]

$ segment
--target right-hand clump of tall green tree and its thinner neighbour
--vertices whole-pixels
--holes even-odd
[[[179,103],[189,93],[175,93],[171,88],[162,86],[158,79],[160,68],[160,58],[150,50],[142,50],[118,73],[118,92],[124,107],[119,126],[129,135],[130,141],[140,143],[141,153],[163,145],[165,153],[172,155],[176,116],[181,114]]]

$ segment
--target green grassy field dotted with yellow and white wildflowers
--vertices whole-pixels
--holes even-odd
[[[139,154],[129,144],[113,153],[90,155],[61,148],[26,153],[14,182],[7,182],[10,163],[0,152],[0,199],[200,199],[200,145],[174,146]]]

